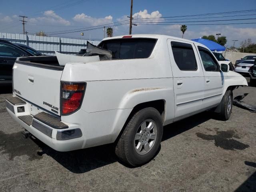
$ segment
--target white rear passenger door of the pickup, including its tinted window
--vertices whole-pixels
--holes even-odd
[[[168,40],[175,98],[175,118],[180,120],[202,108],[204,74],[193,43]]]

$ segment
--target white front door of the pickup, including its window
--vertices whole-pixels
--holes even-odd
[[[220,71],[220,64],[208,49],[197,46],[200,62],[204,71],[204,99],[203,108],[211,108],[220,103],[223,93],[224,76]]]

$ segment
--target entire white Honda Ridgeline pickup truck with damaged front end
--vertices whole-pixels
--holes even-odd
[[[6,108],[25,133],[57,151],[115,143],[122,161],[140,166],[159,149],[164,125],[210,109],[228,120],[232,90],[248,85],[190,40],[137,34],[98,47],[112,58],[65,66],[54,56],[16,60]]]

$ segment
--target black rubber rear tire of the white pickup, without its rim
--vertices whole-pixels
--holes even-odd
[[[135,135],[140,128],[142,122],[146,120],[154,121],[156,125],[156,138],[152,148],[146,154],[138,154],[135,150]],[[160,148],[160,142],[163,136],[163,123],[162,118],[158,110],[149,107],[144,108],[136,112],[129,122],[126,124],[122,135],[120,136],[116,144],[116,155],[123,162],[130,164],[131,166],[141,166],[149,162],[157,153]],[[149,142],[149,140],[148,140]]]

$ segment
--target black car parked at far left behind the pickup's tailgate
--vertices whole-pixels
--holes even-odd
[[[0,39],[0,84],[12,83],[12,67],[17,57],[35,56],[9,41]]]

